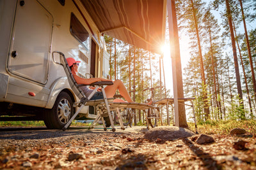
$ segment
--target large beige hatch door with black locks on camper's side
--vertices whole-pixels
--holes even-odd
[[[38,1],[17,1],[8,58],[11,73],[47,82],[52,24],[52,15]]]

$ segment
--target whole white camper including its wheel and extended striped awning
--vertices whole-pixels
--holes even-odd
[[[61,129],[78,99],[54,52],[80,60],[84,76],[108,78],[103,35],[159,53],[167,1],[0,0],[0,120]],[[76,119],[95,117],[84,107]]]

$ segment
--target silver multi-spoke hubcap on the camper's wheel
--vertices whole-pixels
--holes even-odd
[[[58,118],[61,123],[66,124],[70,118],[71,107],[67,99],[61,99],[58,106]]]

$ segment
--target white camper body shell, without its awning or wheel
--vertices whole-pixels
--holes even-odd
[[[15,104],[51,110],[63,91],[73,101],[79,100],[68,85],[63,67],[53,62],[54,51],[81,60],[81,74],[108,76],[109,55],[97,26],[79,0],[63,2],[65,5],[58,0],[0,1],[0,104],[5,107],[0,115],[10,115],[6,113]],[[83,43],[72,34],[71,20],[72,27],[79,20],[88,32]],[[88,107],[79,115],[95,118]]]

